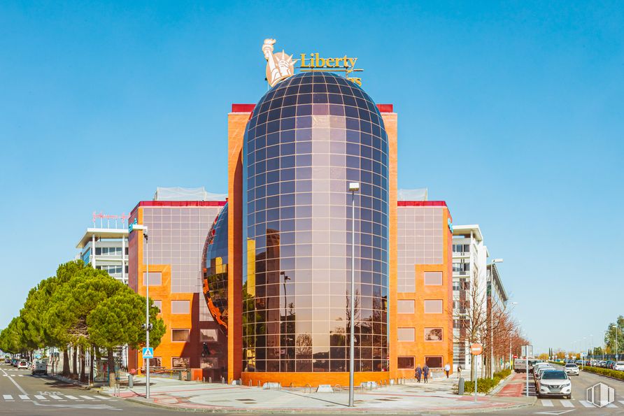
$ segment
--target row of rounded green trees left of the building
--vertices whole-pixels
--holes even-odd
[[[166,327],[150,299],[150,346],[157,347]],[[146,342],[143,324],[146,298],[81,260],[57,268],[56,275],[30,289],[20,315],[0,332],[0,350],[32,359],[34,350],[56,347],[63,352],[63,375],[71,375],[69,351],[73,350],[73,375],[85,378],[85,352],[93,359],[106,354],[109,372],[115,368],[113,349],[121,345],[139,348]]]

